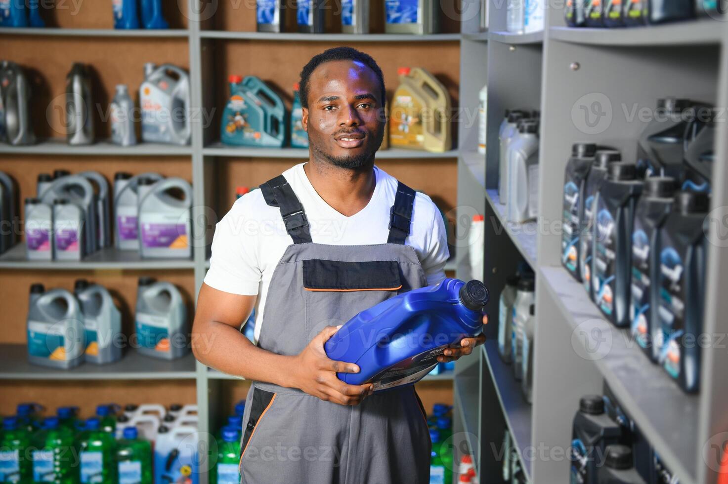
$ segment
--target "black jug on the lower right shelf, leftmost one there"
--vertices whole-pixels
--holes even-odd
[[[596,484],[597,464],[607,445],[619,443],[620,435],[620,426],[604,412],[604,398],[601,395],[582,397],[571,432],[569,482]]]

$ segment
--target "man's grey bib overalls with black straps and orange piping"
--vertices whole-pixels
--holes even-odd
[[[414,191],[397,185],[387,243],[312,242],[304,207],[283,175],[261,186],[293,239],[274,269],[258,346],[295,355],[325,326],[427,285],[409,234]],[[382,221],[387,223],[387,221]],[[325,402],[299,389],[253,382],[243,415],[242,483],[427,484],[430,434],[414,386]]]

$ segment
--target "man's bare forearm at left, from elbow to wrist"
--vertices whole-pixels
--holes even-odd
[[[199,362],[223,373],[296,387],[294,357],[258,348],[240,331],[222,322],[207,322],[201,331],[193,333],[192,351]]]

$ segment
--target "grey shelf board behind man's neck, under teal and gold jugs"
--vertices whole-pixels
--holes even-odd
[[[456,158],[457,150],[445,151],[444,153],[431,153],[430,151],[406,150],[402,148],[389,148],[377,151],[378,159],[442,159]],[[213,143],[202,148],[205,156],[240,156],[242,158],[292,158],[308,159],[309,150],[306,148],[248,148],[245,146],[229,146],[223,143]]]

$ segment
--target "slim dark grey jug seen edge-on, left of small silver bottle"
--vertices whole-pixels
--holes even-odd
[[[69,145],[94,142],[93,98],[87,66],[74,63],[66,76],[66,138]]]

